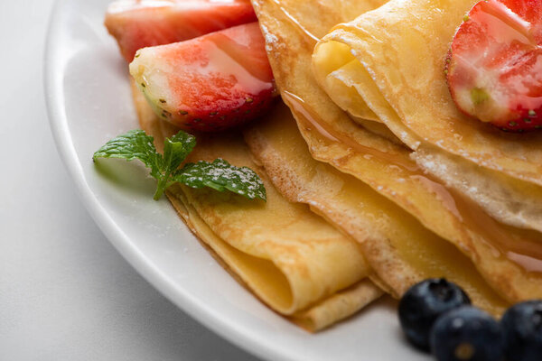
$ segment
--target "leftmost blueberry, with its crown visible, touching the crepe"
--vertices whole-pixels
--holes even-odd
[[[429,279],[412,286],[399,302],[399,321],[406,338],[416,347],[429,349],[429,331],[448,310],[471,304],[463,290],[443,279]]]

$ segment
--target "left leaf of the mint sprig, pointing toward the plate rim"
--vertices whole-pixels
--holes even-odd
[[[151,175],[156,179],[160,177],[163,163],[162,155],[154,147],[154,138],[139,129],[110,140],[92,158],[94,161],[98,158],[122,158],[128,162],[138,159],[151,169]]]

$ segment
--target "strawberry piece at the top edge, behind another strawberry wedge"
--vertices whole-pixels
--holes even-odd
[[[248,0],[118,0],[107,8],[106,27],[126,61],[147,46],[182,42],[257,21]]]

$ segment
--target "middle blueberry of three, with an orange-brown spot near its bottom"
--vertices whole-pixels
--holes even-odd
[[[488,313],[463,306],[436,320],[431,349],[438,361],[500,361],[504,334],[500,323]]]

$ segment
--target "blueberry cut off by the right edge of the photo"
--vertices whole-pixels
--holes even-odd
[[[527,301],[510,307],[500,324],[504,329],[509,360],[542,360],[542,301]]]

